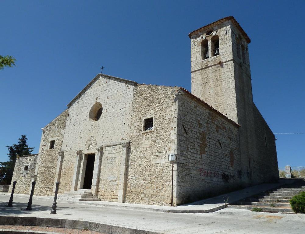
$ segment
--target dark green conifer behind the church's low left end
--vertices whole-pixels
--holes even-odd
[[[0,162],[0,184],[9,185],[13,177],[17,156],[31,154],[34,148],[29,147],[27,144],[26,135],[21,135],[18,144],[6,147],[9,150],[9,153],[7,154],[9,156],[9,161]]]

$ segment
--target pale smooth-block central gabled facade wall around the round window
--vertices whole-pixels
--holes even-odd
[[[81,91],[78,98],[68,105],[69,116],[63,138],[64,159],[59,193],[71,190],[78,150],[83,151],[83,160],[88,149],[96,150],[100,146],[113,142],[129,141],[134,85],[135,82],[132,81],[99,74]],[[89,118],[90,109],[95,103],[101,103],[103,108],[98,121]],[[94,139],[92,144],[88,144],[90,139]],[[97,154],[95,160],[97,160]],[[107,172],[108,169],[111,170],[110,168],[112,167],[102,167],[100,188],[104,186],[103,182],[111,184],[112,177],[107,177],[109,173],[111,174]],[[80,187],[82,188],[81,184]],[[104,192],[99,192],[99,197],[102,194]],[[103,200],[113,201],[112,196],[114,195],[105,197]]]

